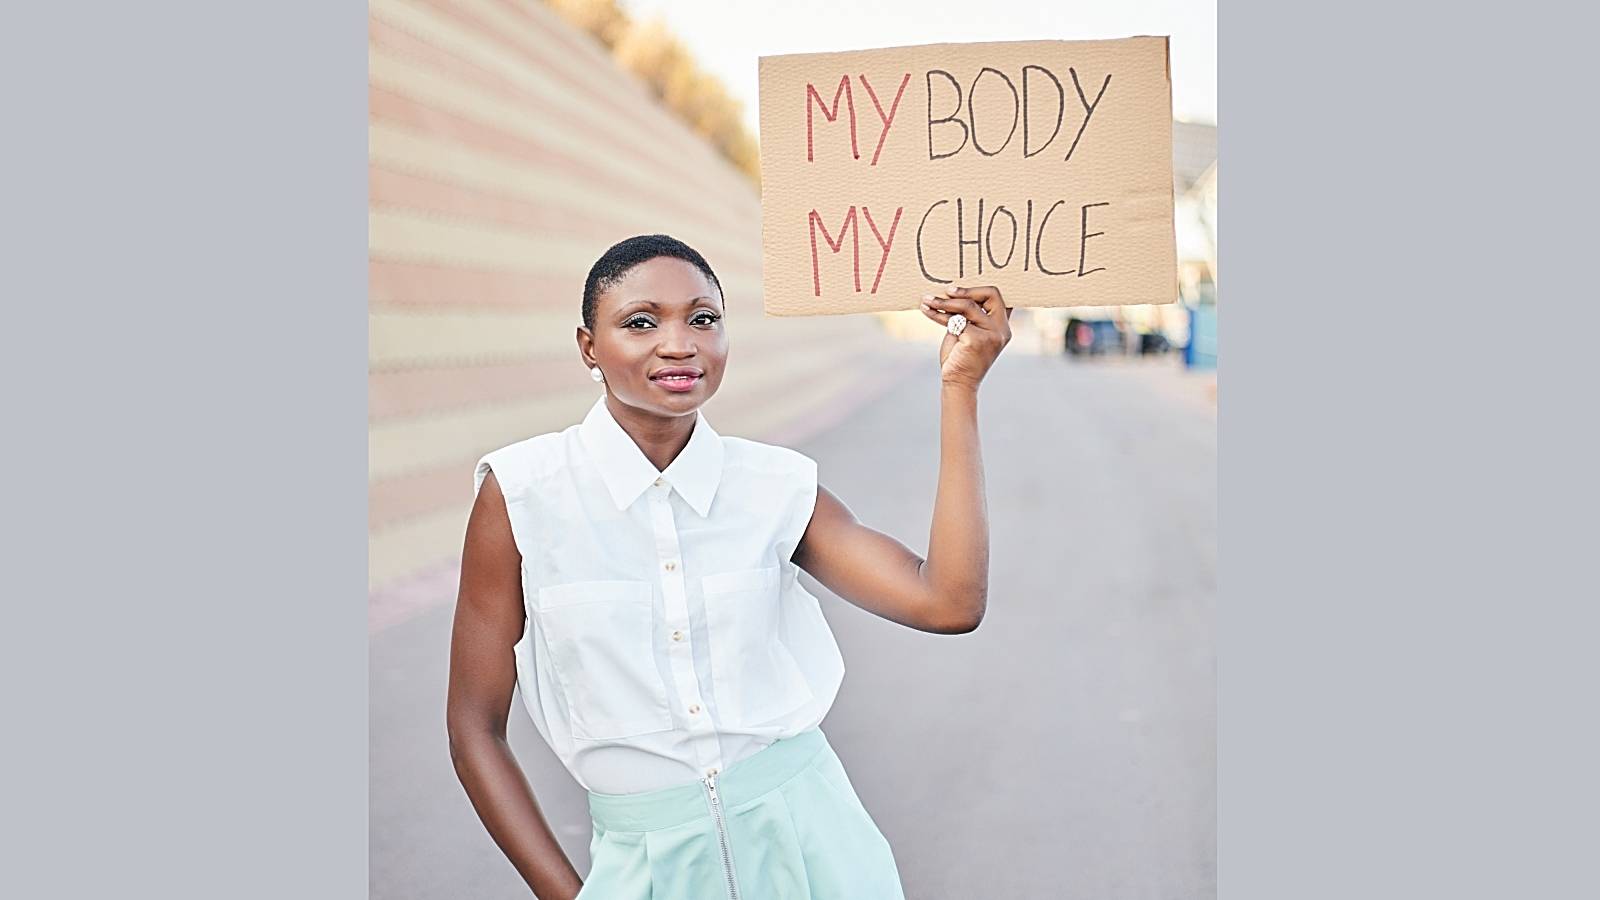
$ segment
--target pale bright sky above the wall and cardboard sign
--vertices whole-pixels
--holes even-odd
[[[619,0],[638,19],[661,16],[701,67],[722,78],[760,131],[757,58],[912,43],[1090,40],[1171,35],[1173,115],[1216,123],[1216,2],[1098,0]]]

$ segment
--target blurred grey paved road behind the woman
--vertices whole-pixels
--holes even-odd
[[[822,722],[910,900],[1216,895],[1216,416],[1162,364],[1006,356],[979,416],[984,625],[922,634],[806,578],[848,674]],[[800,445],[926,549],[938,384],[918,372]],[[526,897],[445,749],[450,610],[371,645],[371,897]],[[589,818],[533,725],[512,746],[579,871]]]

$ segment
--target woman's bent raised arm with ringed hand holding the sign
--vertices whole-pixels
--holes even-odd
[[[794,562],[829,591],[901,625],[938,634],[978,628],[989,602],[989,514],[978,440],[978,384],[1011,341],[1011,309],[995,287],[952,288],[923,298],[941,325],[966,317],[939,346],[939,487],[928,557],[861,524],[818,485],[816,509]]]

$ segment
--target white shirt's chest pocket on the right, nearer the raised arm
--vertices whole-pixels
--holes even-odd
[[[712,690],[730,724],[770,722],[811,700],[805,673],[778,634],[779,589],[776,565],[701,578]]]

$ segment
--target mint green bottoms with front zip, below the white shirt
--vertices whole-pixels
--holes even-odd
[[[904,900],[890,842],[821,729],[704,780],[589,794],[579,900]]]

